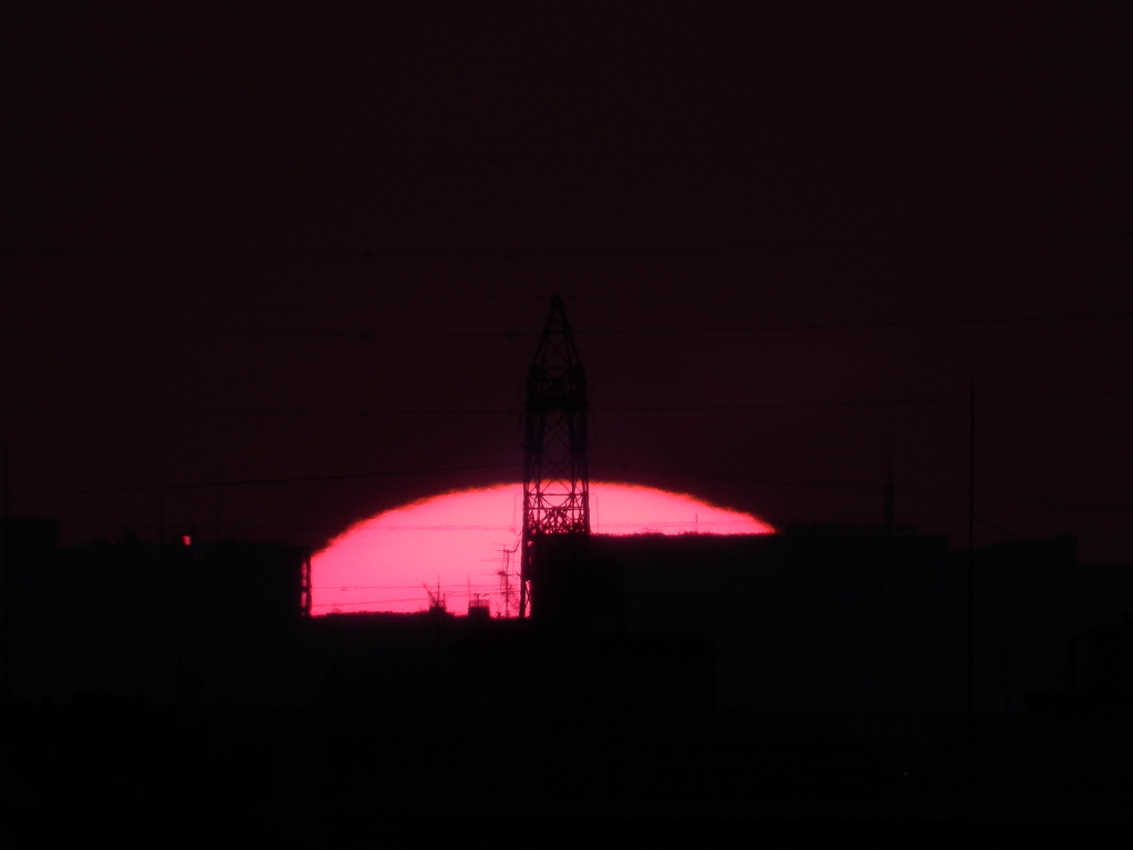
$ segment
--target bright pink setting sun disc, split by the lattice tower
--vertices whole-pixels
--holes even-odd
[[[468,610],[471,592],[501,614],[502,550],[516,549],[521,522],[519,484],[445,493],[357,522],[312,560],[312,613],[421,611],[423,585],[440,584],[452,613]],[[774,532],[748,513],[630,484],[591,483],[590,524],[616,535]]]

